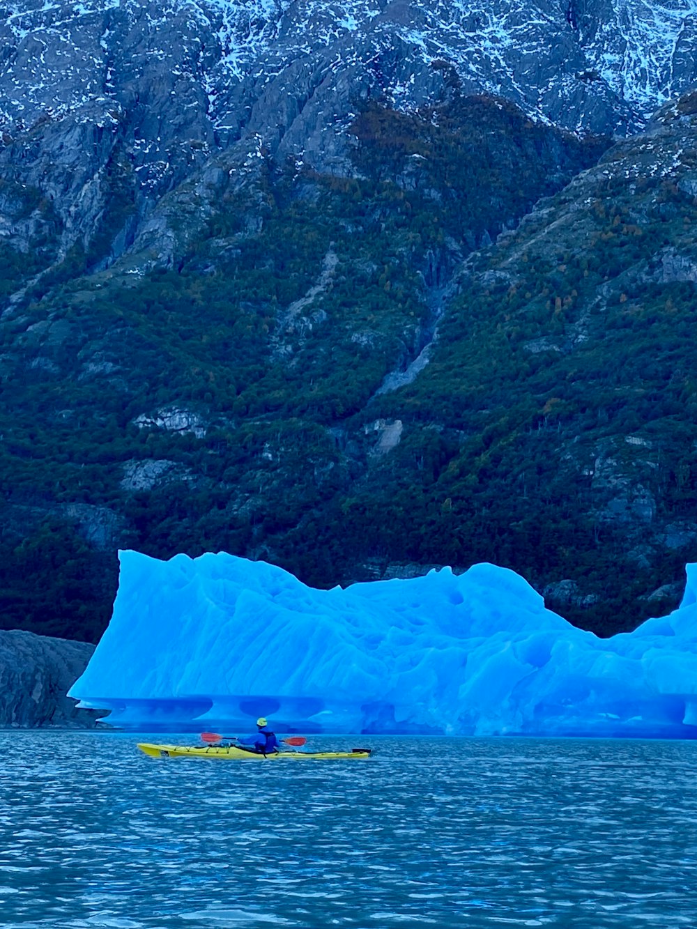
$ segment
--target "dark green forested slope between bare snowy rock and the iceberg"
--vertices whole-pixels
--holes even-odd
[[[29,264],[0,244],[2,626],[96,640],[119,547],[322,586],[489,560],[603,635],[675,606],[645,598],[697,555],[697,149],[662,131],[603,156],[501,100],[371,103],[348,175],[263,159],[138,273],[105,261],[123,164],[59,260],[15,191],[42,224]]]

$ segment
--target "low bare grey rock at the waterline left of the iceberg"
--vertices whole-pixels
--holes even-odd
[[[0,727],[95,726],[99,714],[76,710],[65,696],[93,651],[85,642],[0,631]]]

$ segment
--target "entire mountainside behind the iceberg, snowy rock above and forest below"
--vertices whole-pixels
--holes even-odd
[[[690,4],[0,20],[1,625],[95,640],[117,546],[675,605]]]

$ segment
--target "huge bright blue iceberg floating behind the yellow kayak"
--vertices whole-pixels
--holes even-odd
[[[679,608],[601,639],[514,571],[315,590],[225,553],[125,551],[69,696],[140,730],[697,737],[697,565]]]

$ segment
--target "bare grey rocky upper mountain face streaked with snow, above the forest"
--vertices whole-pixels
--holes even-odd
[[[164,194],[199,171],[196,196],[215,198],[222,170],[243,176],[266,155],[346,174],[345,130],[369,98],[413,108],[457,87],[568,129],[633,132],[695,80],[696,9],[694,0],[7,5],[6,232],[39,267],[75,244],[94,267],[134,239],[154,246],[154,262],[173,260],[180,223],[166,222],[165,204],[151,216]],[[224,164],[211,163],[220,151]],[[49,229],[59,232],[52,249]]]

